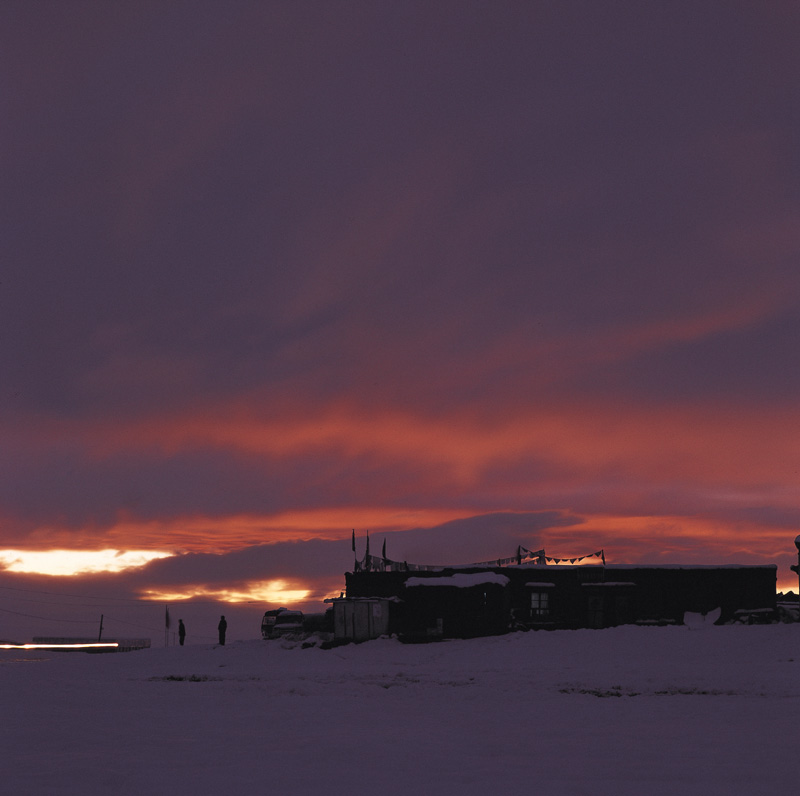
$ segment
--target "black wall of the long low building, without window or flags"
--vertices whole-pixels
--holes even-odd
[[[509,583],[490,599],[478,590],[450,587],[406,588],[409,577],[457,573],[497,573]],[[430,625],[441,619],[447,635],[484,635],[502,627],[609,627],[636,621],[681,622],[685,612],[722,609],[722,621],[739,609],[776,606],[775,566],[521,566],[442,569],[429,572],[349,572],[348,597],[402,600],[391,632]],[[535,585],[548,593],[549,616],[531,614]],[[551,584],[551,585],[550,585]],[[502,596],[500,596],[502,595]]]

